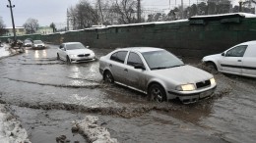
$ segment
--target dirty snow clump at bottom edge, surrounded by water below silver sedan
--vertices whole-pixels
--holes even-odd
[[[88,137],[92,143],[118,143],[111,138],[105,127],[97,125],[97,117],[87,116],[86,119],[77,120],[74,127],[78,127],[80,133]]]

